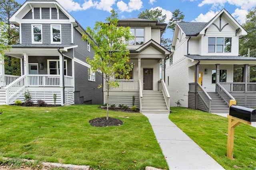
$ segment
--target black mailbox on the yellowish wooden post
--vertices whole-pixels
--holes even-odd
[[[256,122],[256,109],[231,105],[229,108],[229,115],[245,121]]]

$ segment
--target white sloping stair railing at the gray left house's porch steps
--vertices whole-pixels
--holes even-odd
[[[3,88],[6,90],[6,105],[9,104],[10,99],[14,97],[14,95],[16,95],[21,89],[25,87],[25,78],[26,75],[22,75]]]

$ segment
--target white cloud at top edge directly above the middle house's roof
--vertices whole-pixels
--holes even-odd
[[[142,1],[141,0],[130,0],[128,4],[124,1],[119,1],[116,3],[118,10],[121,12],[132,12],[134,10],[140,10],[142,8]]]

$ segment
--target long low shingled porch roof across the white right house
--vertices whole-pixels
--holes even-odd
[[[243,56],[214,56],[214,55],[185,55],[194,60],[244,60],[256,61],[256,57],[243,57]]]

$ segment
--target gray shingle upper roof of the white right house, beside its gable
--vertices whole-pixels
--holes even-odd
[[[207,22],[178,22],[186,36],[196,36],[207,25]]]

